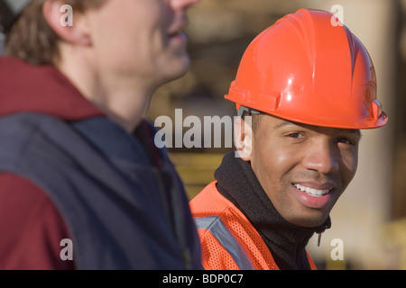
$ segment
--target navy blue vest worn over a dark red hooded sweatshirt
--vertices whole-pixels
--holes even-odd
[[[165,151],[161,158],[153,166],[134,135],[103,117],[0,119],[0,171],[48,194],[67,223],[78,269],[201,268],[189,200]]]

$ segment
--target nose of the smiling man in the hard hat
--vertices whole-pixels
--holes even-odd
[[[303,159],[303,166],[326,175],[338,171],[339,157],[339,150],[334,143],[320,140],[309,147]]]

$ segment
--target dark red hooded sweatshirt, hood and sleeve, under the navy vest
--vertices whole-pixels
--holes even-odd
[[[0,117],[41,112],[74,121],[103,115],[59,70],[0,57]],[[0,172],[0,269],[73,269],[60,241],[69,231],[41,187]]]

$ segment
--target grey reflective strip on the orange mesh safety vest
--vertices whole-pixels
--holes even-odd
[[[254,270],[250,258],[246,255],[245,249],[241,247],[234,235],[230,232],[224,222],[217,216],[201,217],[195,219],[198,229],[207,229],[218,242],[233,257],[235,263],[241,270]]]

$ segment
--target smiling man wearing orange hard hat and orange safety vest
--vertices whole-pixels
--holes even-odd
[[[355,175],[360,130],[388,120],[372,59],[332,17],[300,9],[245,50],[226,95],[244,145],[190,202],[206,269],[316,269],[306,246]]]

